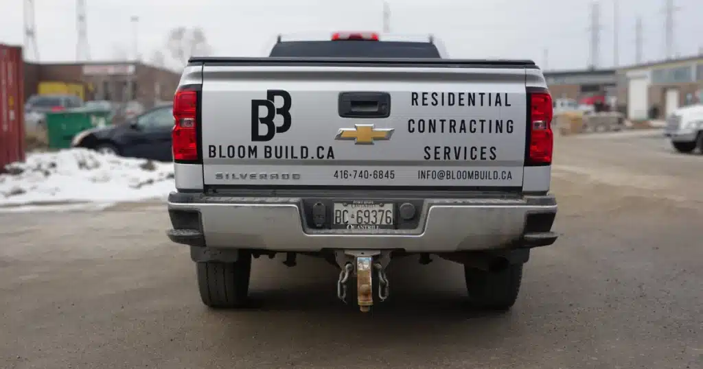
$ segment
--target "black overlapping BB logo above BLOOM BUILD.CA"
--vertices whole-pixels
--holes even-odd
[[[283,105],[276,108],[276,96],[283,98]],[[266,115],[261,117],[259,108],[266,108]],[[282,134],[290,129],[290,93],[283,90],[266,91],[266,100],[252,100],[252,141],[271,141],[276,134]],[[283,124],[276,126],[273,119],[276,115],[283,118]],[[259,129],[266,126],[266,133],[261,134]]]

